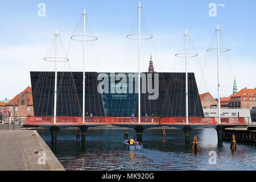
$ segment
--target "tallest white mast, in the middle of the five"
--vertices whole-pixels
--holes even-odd
[[[141,60],[141,2],[139,2],[139,46],[138,46],[138,117],[139,123],[141,123],[141,73],[139,71],[139,62]]]

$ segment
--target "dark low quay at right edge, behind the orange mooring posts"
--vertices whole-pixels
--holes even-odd
[[[234,127],[223,131],[223,139],[231,139],[235,135],[236,140],[246,142],[256,142],[256,130],[254,127]]]

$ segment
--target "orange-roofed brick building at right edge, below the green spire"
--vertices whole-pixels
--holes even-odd
[[[253,109],[256,107],[256,88],[244,88],[229,97],[221,98],[221,107],[230,109]]]

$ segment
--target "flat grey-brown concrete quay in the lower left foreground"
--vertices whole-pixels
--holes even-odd
[[[65,170],[36,130],[0,130],[0,170]]]

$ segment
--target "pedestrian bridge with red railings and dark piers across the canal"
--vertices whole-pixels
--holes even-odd
[[[221,118],[218,123],[216,117],[28,117],[25,126],[38,126],[51,130],[52,142],[57,140],[57,132],[67,127],[78,127],[81,132],[81,140],[85,140],[85,132],[89,127],[96,126],[117,126],[129,127],[137,132],[137,138],[142,140],[142,132],[144,129],[152,127],[176,127],[184,131],[185,142],[189,142],[191,130],[202,127],[212,127],[217,130],[218,139],[222,139],[223,130],[227,127],[246,126],[245,118]]]

